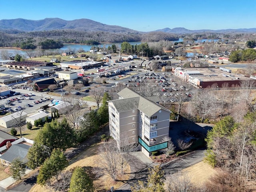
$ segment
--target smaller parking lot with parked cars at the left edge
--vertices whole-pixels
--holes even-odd
[[[49,98],[44,100],[44,96],[36,96],[32,91],[30,95],[22,92],[22,89],[13,89],[13,91],[20,92],[20,94],[11,94],[10,97],[1,98],[0,100],[0,105],[4,105],[5,107],[4,110],[2,109],[2,114],[6,114],[7,112],[14,113],[19,110],[24,110],[26,113],[30,114],[32,112],[38,112],[41,107],[50,104]]]

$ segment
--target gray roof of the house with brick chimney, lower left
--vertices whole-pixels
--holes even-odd
[[[0,158],[8,162],[12,162],[15,158],[20,158],[20,160],[26,163],[28,162],[27,154],[30,147],[26,144],[12,145]]]

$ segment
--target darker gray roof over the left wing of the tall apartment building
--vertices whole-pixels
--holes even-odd
[[[129,110],[138,109],[139,97],[128,98],[128,99],[118,99],[112,100],[117,112],[124,112]]]

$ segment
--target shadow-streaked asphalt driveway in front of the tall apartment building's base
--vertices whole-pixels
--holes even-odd
[[[180,170],[183,170],[189,166],[201,162],[204,158],[205,150],[196,150],[184,156],[180,156],[177,159],[161,164],[162,170],[164,173],[174,173]],[[138,180],[146,181],[148,175],[148,166],[138,159],[132,162],[133,165],[136,165],[136,172],[133,174],[133,178],[128,180],[126,184],[116,190],[116,192],[131,192],[130,186],[136,184]],[[154,164],[152,164],[154,165]]]

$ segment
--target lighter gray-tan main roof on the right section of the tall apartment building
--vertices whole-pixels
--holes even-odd
[[[147,114],[148,116],[152,116],[159,110],[166,110],[166,111],[170,112],[170,110],[164,108],[163,106],[161,106],[155,102],[152,102],[152,101],[146,99],[144,96],[142,96],[128,88],[124,88],[123,90],[118,92],[118,95],[124,99],[139,98],[138,110],[142,111],[143,113]]]

